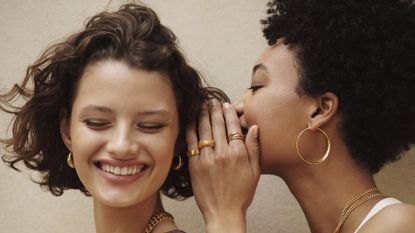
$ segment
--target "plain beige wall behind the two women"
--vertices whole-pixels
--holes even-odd
[[[249,85],[250,71],[265,46],[259,19],[266,0],[147,0],[180,39],[189,60],[214,85],[236,97]],[[23,77],[40,52],[77,30],[86,17],[103,10],[103,0],[0,0],[0,88]],[[118,6],[113,1],[111,8]],[[0,116],[1,136],[7,116]],[[415,203],[414,151],[377,176],[383,191]],[[42,192],[29,173],[0,164],[0,233],[93,232],[92,203],[78,191],[61,197]],[[203,221],[190,198],[165,200],[167,209],[188,232],[203,232]],[[279,178],[264,176],[249,210],[249,232],[308,232],[298,204]]]

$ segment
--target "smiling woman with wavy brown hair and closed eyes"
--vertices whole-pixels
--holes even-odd
[[[38,171],[55,196],[92,196],[96,232],[182,232],[159,191],[193,195],[185,128],[205,98],[226,100],[202,81],[150,8],[99,13],[0,96],[14,117],[3,161]]]

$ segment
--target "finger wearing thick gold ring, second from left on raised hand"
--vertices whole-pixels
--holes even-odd
[[[212,138],[212,128],[210,126],[210,115],[209,107],[206,103],[203,103],[202,109],[199,115],[199,140],[211,140]],[[200,142],[199,141],[199,142]],[[200,153],[203,155],[212,154],[213,148],[210,146],[205,146],[199,148]]]

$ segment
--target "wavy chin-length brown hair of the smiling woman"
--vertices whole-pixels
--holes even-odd
[[[228,99],[222,91],[206,87],[199,73],[187,64],[173,32],[142,4],[126,4],[118,11],[93,16],[82,31],[49,47],[27,69],[21,84],[0,95],[0,108],[14,116],[13,137],[2,140],[12,153],[4,154],[3,161],[16,170],[15,164],[23,161],[26,167],[39,171],[42,178],[38,183],[53,195],[60,196],[67,189],[90,195],[75,170],[66,164],[69,151],[59,126],[61,119],[71,115],[85,68],[105,60],[161,72],[170,79],[180,127],[175,153],[182,156],[184,166],[170,171],[161,191],[176,199],[192,196],[185,128],[197,119],[205,99]],[[14,105],[21,97],[26,100],[23,106]]]

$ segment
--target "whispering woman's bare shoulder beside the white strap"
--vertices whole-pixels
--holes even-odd
[[[359,230],[359,233],[369,232],[415,232],[415,206],[401,203],[382,209]]]

